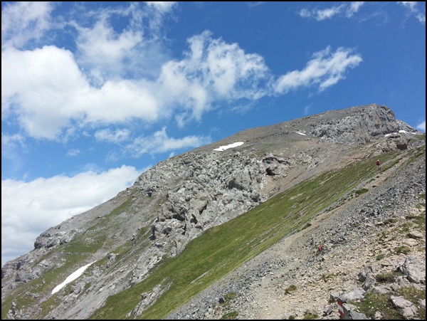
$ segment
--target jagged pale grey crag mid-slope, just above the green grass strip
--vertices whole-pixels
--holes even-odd
[[[157,168],[168,177],[182,173],[181,184],[167,192],[152,225],[152,240],[174,238],[179,253],[185,244],[220,223],[253,208],[266,184],[263,162],[240,153],[218,160],[216,154],[188,155]]]

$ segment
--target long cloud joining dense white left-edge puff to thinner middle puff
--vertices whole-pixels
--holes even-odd
[[[74,132],[70,126],[133,118],[156,122],[174,111],[184,124],[186,118],[199,120],[215,100],[252,100],[267,93],[261,83],[268,69],[260,56],[209,33],[189,42],[188,56],[166,63],[157,83],[107,80],[100,88],[88,83],[70,51],[8,49],[1,56],[2,116],[16,114],[31,137],[59,140]]]

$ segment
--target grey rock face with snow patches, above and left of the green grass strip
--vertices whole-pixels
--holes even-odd
[[[236,147],[218,149],[236,142],[240,142]],[[209,228],[354,159],[404,153],[423,145],[422,133],[396,120],[389,107],[373,104],[244,130],[169,158],[142,173],[133,186],[113,199],[41,233],[33,251],[6,263],[1,269],[2,318],[89,318],[107,298],[147,278],[154,267],[178,256]],[[425,167],[424,181],[417,184],[414,194],[406,196],[408,203],[425,193]],[[394,196],[386,194],[384,201]],[[381,206],[365,205],[357,210],[361,216],[384,215]],[[348,232],[357,219],[345,224],[343,231]],[[364,236],[337,233],[326,248],[351,237]],[[417,260],[408,257],[401,270],[408,280],[425,284],[419,268],[413,270]],[[57,285],[46,280],[62,282],[95,261],[102,264],[90,266],[89,273],[58,292],[60,300],[51,302],[48,309],[41,307]],[[425,258],[423,264],[425,274]],[[368,289],[372,279],[369,271],[365,274]],[[164,291],[167,288],[157,287],[142,294],[141,302],[126,317],[137,318]],[[199,300],[198,305],[206,307],[199,309],[203,315],[189,314],[184,306],[184,312],[177,311],[170,318],[205,318],[211,304]],[[211,317],[218,315],[212,313]]]

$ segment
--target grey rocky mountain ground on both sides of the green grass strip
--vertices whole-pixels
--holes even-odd
[[[149,278],[154,267],[179,256],[209,228],[323,172],[393,151],[397,156],[381,172],[318,213],[310,226],[167,318],[301,319],[310,313],[336,319],[337,299],[357,318],[349,302],[362,300],[369,289],[396,292],[406,285],[424,290],[424,301],[408,303],[396,292],[396,305],[405,305],[406,318],[420,317],[425,135],[396,120],[389,107],[372,104],[244,130],[160,162],[110,201],[41,233],[33,251],[6,263],[2,319],[90,318],[108,298]],[[86,273],[53,295],[56,285],[88,263],[93,265]],[[396,281],[375,282],[394,270],[401,271]],[[160,295],[149,293],[149,304]],[[142,295],[126,317],[142,315],[146,299]]]

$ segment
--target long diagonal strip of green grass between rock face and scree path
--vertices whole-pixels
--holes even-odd
[[[384,154],[383,159],[395,156],[396,153]],[[376,174],[372,163],[374,159],[365,159],[304,181],[246,214],[210,228],[191,241],[179,256],[164,260],[142,282],[108,298],[91,318],[124,319],[141,300],[141,293],[149,293],[157,285],[167,290],[139,317],[166,317],[283,237],[309,227],[317,214]]]

